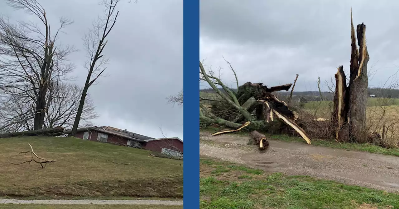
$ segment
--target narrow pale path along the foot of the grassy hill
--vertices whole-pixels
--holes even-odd
[[[173,200],[151,200],[151,199],[129,199],[129,200],[99,200],[99,199],[76,199],[76,200],[20,200],[0,199],[0,204],[45,204],[45,205],[183,205],[183,201]]]

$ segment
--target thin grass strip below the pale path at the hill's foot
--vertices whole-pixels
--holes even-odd
[[[183,205],[36,205],[4,204],[2,209],[183,209]]]

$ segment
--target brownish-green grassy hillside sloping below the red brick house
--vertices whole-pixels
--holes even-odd
[[[36,163],[11,164],[31,159],[17,155],[30,150],[28,143],[39,157],[57,162],[44,169]],[[146,150],[61,137],[0,139],[0,150],[0,196],[183,196],[183,161],[150,156]]]

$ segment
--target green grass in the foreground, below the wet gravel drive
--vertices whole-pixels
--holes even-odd
[[[399,195],[200,158],[201,209],[399,208]]]

